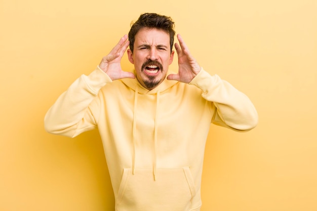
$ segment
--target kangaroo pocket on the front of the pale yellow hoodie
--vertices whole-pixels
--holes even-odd
[[[195,207],[195,188],[188,167],[124,168],[116,195],[117,211],[186,211]]]

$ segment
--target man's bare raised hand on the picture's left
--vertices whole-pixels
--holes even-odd
[[[102,69],[111,80],[121,78],[135,78],[132,72],[123,71],[121,68],[121,59],[129,46],[128,35],[124,35],[110,53],[103,57],[99,68]]]

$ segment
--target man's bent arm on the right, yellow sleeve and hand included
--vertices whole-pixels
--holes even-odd
[[[203,90],[203,97],[212,102],[215,115],[212,122],[237,131],[248,131],[258,123],[257,111],[250,99],[218,75],[211,76],[191,56],[183,38],[178,34],[178,73],[168,75],[169,80],[189,83]]]

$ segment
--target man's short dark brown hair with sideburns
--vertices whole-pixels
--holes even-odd
[[[171,52],[173,49],[174,44],[174,22],[171,17],[159,15],[156,13],[144,13],[141,14],[139,19],[136,22],[131,23],[131,29],[129,31],[129,41],[130,41],[130,50],[133,53],[133,46],[135,41],[135,35],[138,33],[139,30],[142,28],[156,28],[166,31],[170,35],[170,45],[171,45]]]

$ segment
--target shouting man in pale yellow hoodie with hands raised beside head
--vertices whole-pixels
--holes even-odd
[[[96,70],[75,80],[45,117],[53,134],[99,129],[117,211],[200,210],[210,123],[249,131],[258,121],[248,97],[208,74],[180,35],[178,72],[168,72],[173,27],[169,17],[142,14],[129,40],[123,36]],[[134,73],[121,68],[126,50]]]

